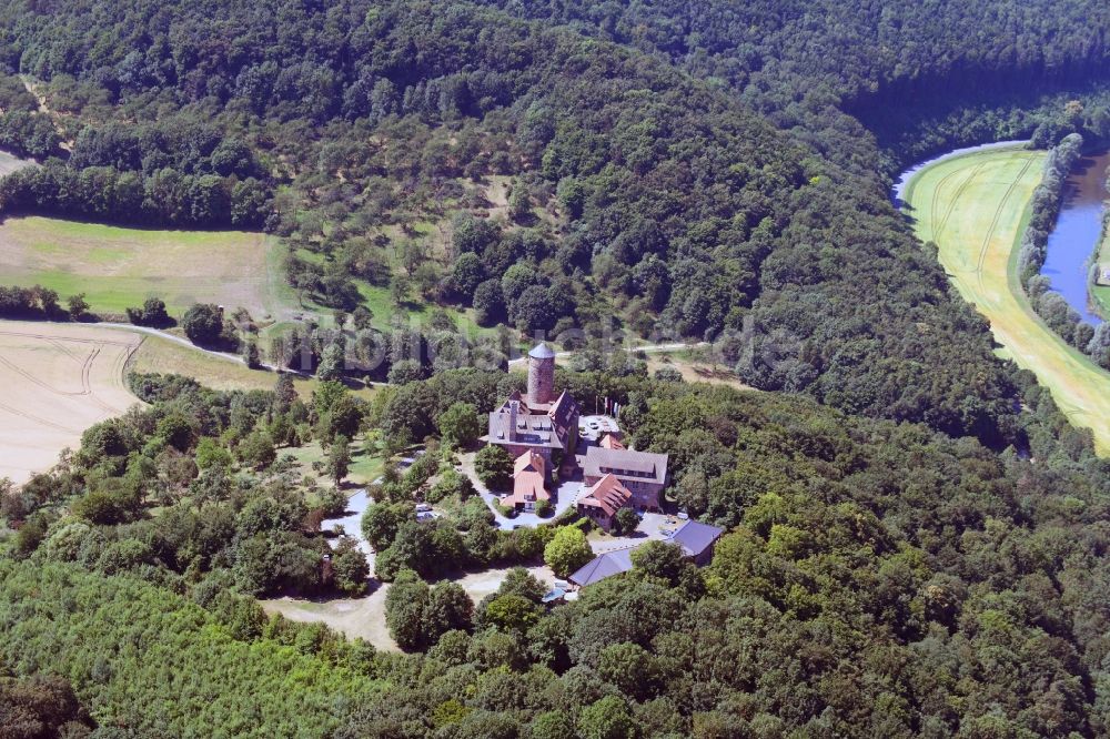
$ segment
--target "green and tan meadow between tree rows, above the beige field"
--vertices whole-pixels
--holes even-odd
[[[255,318],[297,310],[285,285],[280,250],[242,231],[159,231],[10,217],[0,224],[0,283],[84,293],[94,312],[122,314],[150,296],[181,314],[196,302]]]

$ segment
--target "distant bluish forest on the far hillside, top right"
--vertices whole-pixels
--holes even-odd
[[[1062,90],[1102,98],[1103,4],[484,0],[660,54],[727,85],[778,128],[859,174],[958,143],[1073,130]],[[895,169],[898,168],[898,169]]]

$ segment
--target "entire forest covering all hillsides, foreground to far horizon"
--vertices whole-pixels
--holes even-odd
[[[0,209],[265,229],[357,328],[265,347],[307,347],[309,397],[132,375],[145,407],[0,489],[13,736],[1106,736],[1110,467],[993,356],[887,185],[951,143],[1107,139],[1107,29],[1082,0],[0,4],[0,148],[41,163]],[[385,328],[367,285],[442,310]],[[497,529],[454,472],[460,419],[521,382],[403,358],[462,307],[581,331],[594,371],[558,385],[670,455],[674,503],[728,530],[709,567],[648,547],[574,604],[517,570],[472,608],[445,578],[576,524]],[[610,324],[712,340],[783,392],[591,366]],[[364,403],[337,357],[375,347],[391,385]],[[309,443],[329,484],[296,474]],[[357,443],[425,452],[363,520],[404,655],[254,600],[364,589],[320,532]],[[427,496],[452,515],[407,520]]]

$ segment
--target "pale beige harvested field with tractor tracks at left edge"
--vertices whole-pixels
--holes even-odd
[[[80,324],[0,321],[0,477],[49,469],[89,426],[139,401],[123,371],[141,337]]]

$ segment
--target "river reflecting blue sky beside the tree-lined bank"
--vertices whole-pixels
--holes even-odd
[[[1048,250],[1041,274],[1052,290],[1063,295],[1068,304],[1091,324],[1102,320],[1090,310],[1087,294],[1088,260],[1099,242],[1102,230],[1106,169],[1110,152],[1084,156],[1068,178],[1063,204],[1056,227],[1048,237]]]

